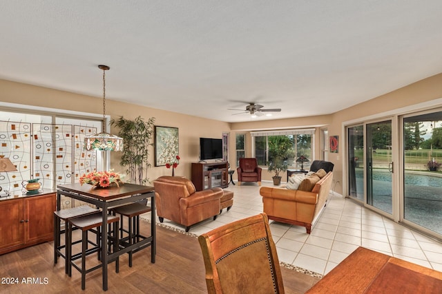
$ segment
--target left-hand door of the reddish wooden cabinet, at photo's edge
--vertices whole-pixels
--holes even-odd
[[[25,242],[23,199],[0,201],[0,251]]]

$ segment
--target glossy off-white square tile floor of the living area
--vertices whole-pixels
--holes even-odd
[[[262,185],[273,184],[262,182]],[[189,233],[200,235],[223,224],[262,212],[259,188],[253,183],[241,186],[230,184],[226,189],[235,193],[230,211],[224,209],[216,220],[211,218],[195,224]],[[164,224],[184,231],[184,227],[169,220],[164,220]],[[280,262],[321,275],[331,271],[358,246],[442,271],[441,242],[396,224],[338,193],[330,193],[329,203],[310,235],[305,232],[305,227],[273,220],[270,221],[270,228]]]

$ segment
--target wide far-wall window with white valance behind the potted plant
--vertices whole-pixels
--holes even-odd
[[[305,156],[308,160],[302,162],[304,167],[309,167],[313,160],[314,129],[252,132],[251,136],[255,143],[254,154],[258,165],[267,165],[273,158],[282,156],[289,168],[300,169],[300,156]]]

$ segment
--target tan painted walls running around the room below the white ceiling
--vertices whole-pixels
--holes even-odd
[[[282,120],[260,120],[247,123],[223,123],[216,120],[208,120],[195,116],[187,116],[173,112],[166,112],[158,109],[131,105],[117,101],[106,100],[106,114],[112,118],[125,116],[126,118],[155,117],[155,125],[180,128],[180,156],[182,158],[180,167],[177,169],[178,175],[191,176],[191,162],[198,160],[198,148],[200,137],[221,138],[222,132],[230,132],[230,162],[231,167],[236,168],[236,134],[246,133],[246,155],[251,156],[251,136],[250,131],[260,129],[282,129],[282,128],[302,128],[316,127],[316,153],[315,158],[320,158],[319,128],[327,127],[329,136],[339,136],[339,153],[329,154],[329,160],[334,162],[334,179],[342,183],[343,178],[343,148],[345,148],[343,123],[357,118],[366,118],[381,112],[394,111],[401,107],[416,105],[425,101],[432,101],[442,98],[442,74],[425,78],[422,81],[412,83],[394,90],[390,93],[373,98],[365,103],[360,103],[343,109],[340,112],[324,116],[310,116],[305,118],[287,118]],[[102,114],[102,98],[73,94],[58,90],[36,87],[21,83],[0,80],[0,101],[9,103],[19,103],[24,105],[35,105],[58,109],[68,109],[78,112],[90,112]],[[440,106],[440,105],[439,105]],[[116,132],[115,129],[111,130]],[[115,154],[114,154],[115,157]],[[153,149],[151,153],[151,164],[153,165]],[[113,158],[112,167],[122,170],[118,165],[117,158]],[[165,167],[152,167],[148,171],[148,177],[155,179],[164,174],[171,174]],[[235,174],[236,175],[236,174]],[[283,179],[285,174],[282,175]],[[263,172],[263,179],[270,180],[271,174]],[[342,193],[342,187],[336,185],[336,191]]]

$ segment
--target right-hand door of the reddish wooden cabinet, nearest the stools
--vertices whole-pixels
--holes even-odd
[[[54,237],[55,193],[25,199],[26,242],[49,241]]]

